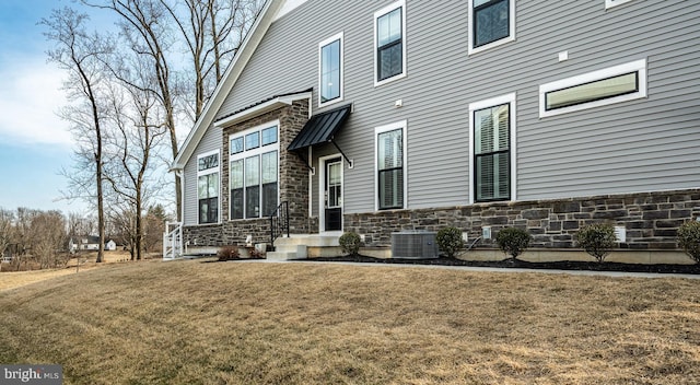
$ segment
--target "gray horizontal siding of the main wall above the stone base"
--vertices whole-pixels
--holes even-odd
[[[347,213],[374,211],[374,128],[405,119],[407,208],[468,203],[469,103],[510,93],[517,200],[700,186],[700,2],[634,0],[605,10],[605,0],[518,0],[515,42],[469,56],[466,1],[406,0],[407,77],[374,88],[373,14],[392,2],[310,0],[278,20],[219,117],[308,88],[314,114],[323,110],[318,43],[343,32],[345,100],[328,108],[354,103],[336,138],[354,161],[343,172]],[[563,50],[569,60],[559,62]],[[648,98],[539,118],[540,84],[644,58]],[[397,100],[404,107],[394,107]],[[313,165],[334,150],[314,149]],[[314,214],[317,191],[315,177]]]

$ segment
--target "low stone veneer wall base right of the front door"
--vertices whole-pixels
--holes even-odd
[[[582,226],[608,222],[627,229],[621,248],[675,249],[678,226],[698,217],[700,189],[692,189],[346,214],[345,231],[364,234],[368,246],[389,246],[399,231],[456,226],[476,240],[483,226],[491,226],[492,238],[500,229],[517,226],[533,235],[532,247],[571,248]],[[479,245],[494,246],[492,240]]]

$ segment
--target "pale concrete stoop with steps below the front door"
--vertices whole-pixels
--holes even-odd
[[[308,257],[334,257],[340,255],[340,235],[293,234],[275,241],[275,252],[268,252],[268,260],[294,260]]]

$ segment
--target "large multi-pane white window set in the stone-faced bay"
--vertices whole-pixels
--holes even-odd
[[[278,127],[276,122],[230,136],[230,219],[267,217],[277,209]]]

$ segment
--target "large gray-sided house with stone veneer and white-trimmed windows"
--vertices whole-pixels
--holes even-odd
[[[675,252],[700,217],[699,18],[692,1],[267,1],[173,164],[183,238],[265,242],[281,217],[380,247],[522,226],[561,250],[607,221],[625,249]]]

